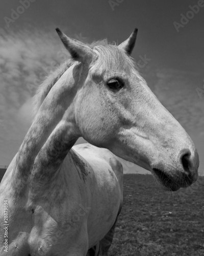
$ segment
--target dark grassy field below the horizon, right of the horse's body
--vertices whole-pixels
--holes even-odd
[[[203,198],[204,177],[169,193],[150,175],[124,175],[123,208],[109,255],[203,256]]]

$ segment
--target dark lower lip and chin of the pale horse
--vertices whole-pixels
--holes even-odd
[[[162,172],[162,170],[157,168],[153,168],[152,170],[157,179],[159,179],[162,185],[168,190],[176,191],[182,187],[181,184],[175,183],[172,179],[170,179],[164,172]]]

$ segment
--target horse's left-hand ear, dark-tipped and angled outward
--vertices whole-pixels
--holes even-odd
[[[95,52],[83,42],[66,36],[59,28],[56,31],[73,59],[87,62],[87,59],[92,59],[95,55]]]

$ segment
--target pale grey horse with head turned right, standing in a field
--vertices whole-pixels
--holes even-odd
[[[131,58],[137,29],[118,46],[56,30],[70,58],[38,88],[35,118],[1,182],[1,255],[108,255],[122,207],[117,157],[170,191],[198,175],[191,138]],[[88,144],[73,146],[79,137]]]

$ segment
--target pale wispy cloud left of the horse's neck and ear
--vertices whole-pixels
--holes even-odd
[[[59,51],[54,29],[0,31],[0,163],[9,164],[17,152],[31,123],[31,98],[53,63],[63,61]]]

